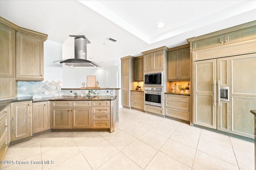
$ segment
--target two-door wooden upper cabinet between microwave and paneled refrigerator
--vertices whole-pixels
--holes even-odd
[[[170,81],[190,80],[190,49],[189,47],[168,52],[167,62],[168,62],[168,71],[167,71],[168,80]]]

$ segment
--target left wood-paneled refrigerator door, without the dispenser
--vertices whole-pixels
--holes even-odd
[[[216,129],[216,59],[193,64],[194,123]]]

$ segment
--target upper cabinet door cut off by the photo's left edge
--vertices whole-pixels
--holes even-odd
[[[15,78],[15,30],[0,24],[0,77]]]

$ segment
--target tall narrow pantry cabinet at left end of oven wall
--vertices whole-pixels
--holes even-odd
[[[121,58],[122,67],[122,106],[131,107],[130,90],[134,82],[134,57],[127,56]]]

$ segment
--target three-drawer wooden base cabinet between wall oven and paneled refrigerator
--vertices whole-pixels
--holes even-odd
[[[190,96],[165,94],[165,115],[190,121]]]

